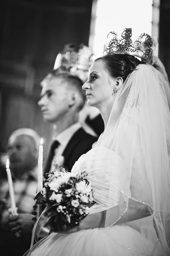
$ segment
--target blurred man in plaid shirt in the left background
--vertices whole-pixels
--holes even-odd
[[[22,256],[29,249],[34,197],[37,190],[37,159],[40,136],[32,129],[20,128],[8,140],[8,157],[12,172],[15,202],[19,215],[9,216],[11,207],[7,177],[0,180],[0,247],[6,255]],[[27,226],[23,216],[29,219]],[[13,221],[12,224],[10,221]],[[15,225],[20,234],[16,237]],[[11,229],[11,230],[10,230]],[[27,236],[29,231],[29,237]],[[3,250],[4,249],[4,250]]]

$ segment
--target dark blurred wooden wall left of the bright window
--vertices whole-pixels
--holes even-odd
[[[46,158],[52,125],[43,122],[40,81],[66,43],[88,45],[92,0],[4,0],[0,7],[0,153],[17,128],[44,139]]]

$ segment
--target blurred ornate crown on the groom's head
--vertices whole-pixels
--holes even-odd
[[[80,44],[77,48],[73,44],[66,44],[57,55],[54,70],[63,67],[67,71],[70,69],[88,71],[93,54],[85,44]]]

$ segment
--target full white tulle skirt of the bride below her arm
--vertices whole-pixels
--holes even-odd
[[[24,256],[28,255],[26,252]],[[52,233],[35,244],[31,256],[167,256],[157,242],[153,245],[126,224],[81,230],[71,234]]]

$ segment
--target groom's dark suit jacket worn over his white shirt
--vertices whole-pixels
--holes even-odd
[[[64,157],[63,164],[69,172],[71,172],[72,166],[78,158],[89,151],[92,148],[92,144],[97,141],[97,139],[97,137],[87,134],[82,128],[78,129],[78,131],[73,134],[62,154]],[[44,174],[49,172],[49,170],[50,166],[48,165],[44,169]]]

